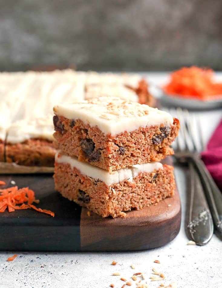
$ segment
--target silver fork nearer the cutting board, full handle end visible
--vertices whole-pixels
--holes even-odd
[[[200,177],[190,156],[193,155],[191,139],[186,127],[185,118],[180,109],[170,110],[180,121],[180,132],[174,143],[175,157],[179,162],[187,162],[190,172],[188,193],[188,211],[186,213],[186,232],[188,237],[198,245],[207,244],[214,233],[212,216],[204,195]],[[192,153],[192,154],[191,154]]]

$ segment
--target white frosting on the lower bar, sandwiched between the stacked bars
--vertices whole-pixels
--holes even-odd
[[[160,162],[150,162],[133,165],[131,167],[122,168],[109,173],[108,171],[92,166],[87,162],[80,162],[78,161],[77,157],[62,155],[59,154],[59,152],[56,153],[55,161],[58,163],[68,163],[72,168],[75,167],[78,169],[81,174],[93,179],[99,179],[100,181],[106,183],[107,186],[113,183],[119,183],[125,179],[132,182],[132,180],[138,176],[140,172],[151,173],[153,170],[163,169],[163,165]]]

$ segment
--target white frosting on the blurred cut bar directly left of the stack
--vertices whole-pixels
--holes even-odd
[[[43,138],[53,141],[53,115],[14,122],[8,129],[7,142],[15,144],[30,138]]]

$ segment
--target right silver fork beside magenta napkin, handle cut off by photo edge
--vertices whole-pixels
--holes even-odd
[[[188,110],[182,110],[181,108],[176,109],[179,120],[181,121],[181,131],[185,136],[185,143],[188,147],[185,155],[182,153],[176,153],[176,157],[185,157],[191,161],[194,168],[197,170],[201,183],[204,188],[207,203],[209,205],[211,215],[214,222],[214,227],[217,233],[222,236],[222,194],[218,189],[214,179],[208,172],[204,162],[201,160],[200,152],[204,150],[204,142],[201,132],[201,125],[199,118],[195,117],[191,119],[191,115]],[[192,121],[193,120],[193,121]],[[196,129],[194,127],[196,126]],[[198,137],[195,137],[195,134]],[[199,139],[199,143],[197,141]]]

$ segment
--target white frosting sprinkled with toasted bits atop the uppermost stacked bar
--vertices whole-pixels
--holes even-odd
[[[173,117],[164,111],[124,101],[119,98],[100,97],[87,101],[54,106],[58,116],[81,119],[90,126],[98,126],[106,134],[116,135],[134,131],[141,127],[173,124]]]

